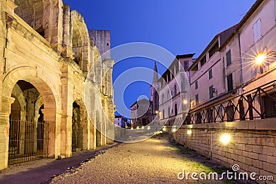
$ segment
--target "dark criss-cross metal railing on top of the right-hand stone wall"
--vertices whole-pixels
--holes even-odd
[[[189,114],[184,124],[246,121],[276,117],[275,81]]]

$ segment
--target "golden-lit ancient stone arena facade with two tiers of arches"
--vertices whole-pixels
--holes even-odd
[[[0,4],[0,170],[112,143],[114,62],[81,14],[61,0]]]

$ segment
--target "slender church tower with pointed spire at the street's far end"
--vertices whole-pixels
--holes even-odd
[[[152,118],[154,119],[157,113],[159,112],[159,95],[157,89],[159,87],[158,84],[158,72],[157,65],[155,61],[155,70],[153,72],[152,84],[150,85],[150,103],[152,105]]]

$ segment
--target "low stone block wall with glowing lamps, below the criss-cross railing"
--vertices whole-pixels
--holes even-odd
[[[188,130],[192,130],[192,134],[188,135]],[[223,145],[219,141],[224,133],[231,136],[228,145]],[[248,174],[255,172],[258,176],[276,178],[274,119],[182,125],[177,132],[173,133],[173,136],[177,143],[209,158],[212,157],[214,161],[226,167],[231,168],[232,165],[237,164],[240,167],[239,172],[248,172]],[[258,181],[258,183],[264,182]]]

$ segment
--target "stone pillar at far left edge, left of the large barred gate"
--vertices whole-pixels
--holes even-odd
[[[2,96],[0,112],[0,170],[8,167],[8,143],[10,132],[10,111],[14,98]]]

